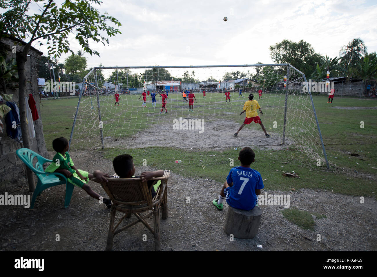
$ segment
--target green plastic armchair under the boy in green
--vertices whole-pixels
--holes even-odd
[[[42,191],[44,191],[46,188],[62,184],[66,184],[66,199],[64,200],[64,208],[67,208],[75,186],[69,183],[66,176],[61,173],[44,172],[43,164],[45,162],[52,162],[52,160],[43,158],[41,155],[28,148],[20,148],[16,151],[16,154],[18,158],[20,158],[21,161],[23,161],[38,177],[37,187],[35,188],[30,208],[34,209],[35,199],[41,194]],[[35,163],[35,165],[33,165],[33,159],[35,157],[37,157],[38,161]]]

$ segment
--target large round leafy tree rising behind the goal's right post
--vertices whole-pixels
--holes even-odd
[[[305,76],[310,76],[316,70],[317,64],[323,59],[309,43],[303,40],[298,43],[283,40],[271,45],[270,56],[274,63],[289,63],[303,72]]]

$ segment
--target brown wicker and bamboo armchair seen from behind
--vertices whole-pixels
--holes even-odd
[[[155,251],[161,250],[160,243],[160,208],[162,208],[162,219],[167,218],[167,180],[170,171],[165,170],[162,177],[154,177],[152,180],[161,180],[161,185],[156,190],[156,195],[152,199],[152,187],[148,189],[147,182],[142,182],[141,178],[107,178],[108,182],[101,183],[103,189],[109,195],[112,203],[110,228],[107,236],[106,251],[110,251],[113,246],[113,238],[116,234],[127,228],[142,222],[155,237]],[[152,210],[146,215],[141,213]],[[125,213],[114,228],[116,211]],[[138,217],[132,223],[118,228],[126,217],[135,214]],[[154,230],[146,222],[146,218],[153,214]],[[118,228],[118,230],[116,230]]]

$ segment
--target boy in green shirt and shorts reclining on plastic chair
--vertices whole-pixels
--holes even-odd
[[[68,182],[77,185],[86,191],[87,194],[95,199],[100,200],[101,197],[98,193],[95,193],[88,185],[90,179],[96,178],[100,181],[106,180],[105,177],[109,177],[109,174],[103,173],[100,170],[95,170],[93,174],[77,169],[72,159],[68,154],[69,145],[66,138],[57,138],[52,141],[52,148],[57,152],[52,163],[46,168],[45,172],[57,172],[67,177]],[[111,200],[103,198],[103,203],[108,208],[111,207]]]

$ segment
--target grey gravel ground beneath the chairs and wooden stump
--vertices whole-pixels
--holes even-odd
[[[102,159],[100,154],[88,157],[85,152],[71,151],[70,155],[80,169],[92,171],[98,168],[113,173],[112,162]],[[136,168],[136,174],[154,169],[139,167]],[[99,184],[89,184],[93,190],[104,195]],[[32,196],[26,182],[23,185],[26,187],[12,194]],[[302,230],[288,222],[280,213],[283,206],[261,205],[263,214],[257,236],[231,241],[223,231],[228,205],[224,204],[224,210],[219,211],[211,204],[218,197],[221,186],[210,178],[184,178],[172,171],[168,182],[169,215],[160,222],[163,251],[377,250],[377,205],[373,198],[366,197],[365,204],[360,204],[360,197],[308,189],[289,192],[290,206],[326,215],[326,218],[315,219],[314,231]],[[8,193],[17,188],[15,184]],[[37,198],[34,210],[20,206],[0,206],[0,249],[104,250],[110,220],[109,209],[78,188],[74,190],[70,206],[63,208],[64,193],[65,186],[44,191]],[[266,181],[262,193],[287,192],[268,190]],[[187,197],[190,197],[189,204]],[[124,221],[130,220],[135,220],[135,216]],[[153,224],[153,220],[149,219],[149,223]],[[146,241],[143,241],[143,234],[147,235]],[[316,240],[317,234],[321,235],[320,242]],[[259,244],[263,248],[257,248]],[[115,236],[113,250],[153,251],[153,235],[143,224],[138,223]]]

